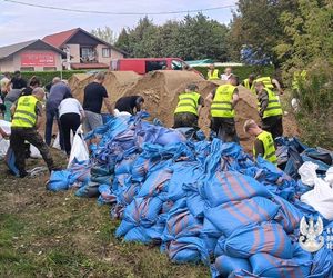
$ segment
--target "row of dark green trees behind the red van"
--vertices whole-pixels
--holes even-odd
[[[228,27],[202,13],[157,26],[148,17],[133,29],[123,29],[115,46],[132,57],[211,58],[226,61]]]

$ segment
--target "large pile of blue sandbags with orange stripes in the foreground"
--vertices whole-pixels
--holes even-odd
[[[333,251],[297,242],[301,218],[321,216],[299,200],[310,187],[238,143],[186,139],[143,116],[111,118],[89,135],[101,137],[90,161],[53,173],[64,173],[62,188],[110,203],[122,219],[117,237],[159,245],[179,264],[202,261],[212,277],[332,277]],[[95,195],[84,193],[91,187]]]

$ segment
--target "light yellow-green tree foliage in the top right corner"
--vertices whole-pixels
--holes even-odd
[[[283,68],[304,69],[316,60],[333,62],[332,1],[299,0],[297,11],[281,14],[284,38],[274,49]]]

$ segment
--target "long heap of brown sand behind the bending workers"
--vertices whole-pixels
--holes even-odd
[[[83,100],[84,87],[93,80],[93,77],[75,77],[70,79],[70,86],[74,97]],[[81,80],[79,80],[81,78]],[[110,71],[107,73],[104,86],[114,103],[120,97],[140,95],[145,99],[145,109],[151,118],[159,118],[167,127],[173,126],[173,111],[178,103],[178,96],[185,90],[189,83],[195,83],[203,98],[213,91],[223,81],[206,81],[195,72],[189,71],[154,71],[145,76],[139,76],[132,71]],[[235,121],[241,143],[246,150],[252,149],[253,139],[243,132],[243,123],[246,119],[259,121],[256,111],[256,97],[250,90],[239,86],[240,101],[235,107]],[[103,108],[103,111],[105,109]],[[285,135],[294,136],[296,125],[291,117],[285,117],[287,125]],[[209,135],[210,110],[204,107],[199,126]],[[291,131],[291,132],[289,132]]]

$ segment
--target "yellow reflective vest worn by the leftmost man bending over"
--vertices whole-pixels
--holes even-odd
[[[36,126],[36,105],[39,100],[34,96],[23,96],[18,100],[17,109],[11,122],[12,128],[32,128]]]

